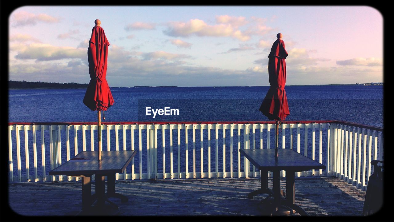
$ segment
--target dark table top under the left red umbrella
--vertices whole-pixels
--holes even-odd
[[[49,171],[49,175],[91,176],[93,174],[122,173],[136,155],[136,150],[101,151],[101,160],[97,151],[83,151]]]

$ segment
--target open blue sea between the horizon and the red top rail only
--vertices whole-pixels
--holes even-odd
[[[268,121],[258,108],[269,87],[122,87],[111,88],[115,104],[108,122]],[[96,112],[82,100],[85,89],[9,90],[9,122],[95,122]],[[344,120],[383,126],[383,86],[286,86],[286,120]],[[146,116],[146,106],[166,105],[179,116]],[[157,108],[164,108],[159,106]],[[142,110],[142,111],[141,111]],[[140,111],[140,112],[138,112]]]

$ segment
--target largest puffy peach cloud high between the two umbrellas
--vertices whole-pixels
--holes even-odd
[[[247,41],[250,36],[244,35],[242,31],[235,30],[231,24],[208,25],[203,20],[191,19],[188,22],[171,22],[163,31],[165,35],[173,37],[188,37],[190,35],[211,37],[233,37],[241,41]]]

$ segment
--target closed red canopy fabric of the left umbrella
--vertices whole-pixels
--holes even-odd
[[[92,111],[105,111],[114,103],[106,80],[109,45],[103,28],[97,25],[93,27],[89,48],[87,49],[91,80],[83,101]]]

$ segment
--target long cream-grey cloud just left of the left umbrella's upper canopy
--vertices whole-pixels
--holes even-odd
[[[83,59],[87,56],[86,50],[82,48],[59,47],[41,43],[12,45],[10,50],[17,52],[16,59],[35,59],[36,61]]]

